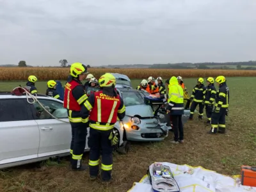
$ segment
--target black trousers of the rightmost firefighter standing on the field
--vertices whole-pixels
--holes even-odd
[[[216,132],[219,128],[219,132],[224,133],[226,129],[226,108],[220,108],[220,112],[212,112],[212,118],[211,118],[211,127],[212,132]]]

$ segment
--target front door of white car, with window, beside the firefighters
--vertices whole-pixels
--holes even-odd
[[[36,102],[33,104],[36,123],[40,131],[40,145],[38,157],[54,156],[70,151],[71,126],[68,121],[67,109],[63,108],[63,102],[55,99],[38,99],[39,102],[53,116],[42,109]],[[86,145],[88,148],[88,145]]]

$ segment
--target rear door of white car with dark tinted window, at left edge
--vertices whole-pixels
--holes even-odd
[[[37,158],[39,140],[26,99],[0,99],[0,168]]]

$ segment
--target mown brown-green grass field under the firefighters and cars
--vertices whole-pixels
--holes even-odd
[[[240,166],[256,165],[256,102],[253,88],[255,77],[228,77],[230,88],[230,108],[227,117],[227,133],[209,135],[209,126],[193,120],[184,125],[184,145],[173,145],[173,134],[161,143],[132,143],[127,155],[114,154],[113,182],[108,186],[100,182],[90,182],[86,172],[70,171],[67,159],[61,164],[46,161],[28,164],[10,170],[0,171],[0,191],[127,191],[133,182],[138,182],[147,173],[147,168],[155,161],[175,164],[203,166],[226,175],[237,175]],[[136,86],[140,81],[132,81]],[[184,79],[191,93],[196,79]],[[12,90],[20,82],[0,83],[0,90]],[[39,92],[45,92],[45,82],[38,82]],[[195,115],[196,117],[196,115]],[[204,119],[205,120],[205,119]],[[83,157],[88,162],[88,154]]]

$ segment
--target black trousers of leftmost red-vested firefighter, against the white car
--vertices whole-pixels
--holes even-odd
[[[82,122],[71,124],[72,140],[70,143],[70,154],[72,154],[71,164],[72,168],[76,169],[82,166],[81,159],[86,144],[88,123]]]

